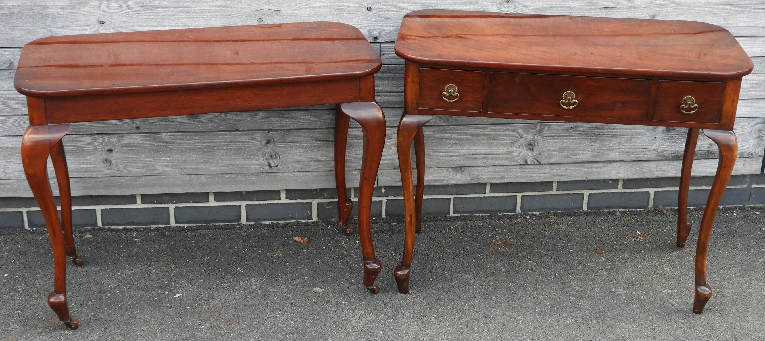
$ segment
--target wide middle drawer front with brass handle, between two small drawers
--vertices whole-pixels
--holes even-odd
[[[627,78],[494,72],[489,112],[644,120],[651,85]]]

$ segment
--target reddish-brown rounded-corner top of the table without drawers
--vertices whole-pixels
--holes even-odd
[[[37,39],[14,85],[34,97],[142,93],[358,78],[381,65],[351,25],[262,24]]]

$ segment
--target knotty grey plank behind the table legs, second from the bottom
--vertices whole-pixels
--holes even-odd
[[[428,167],[568,164],[594,161],[679,160],[684,128],[587,123],[425,125]],[[737,119],[741,158],[765,150],[765,118]],[[68,135],[64,138],[73,177],[220,174],[332,170],[333,129],[249,132]],[[383,169],[398,167],[396,129],[389,128]],[[360,167],[362,137],[353,128],[348,169]],[[0,137],[0,179],[23,177],[18,136]],[[707,138],[697,158],[717,158]]]

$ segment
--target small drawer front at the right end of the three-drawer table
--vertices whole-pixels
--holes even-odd
[[[654,121],[718,123],[725,83],[659,80]]]

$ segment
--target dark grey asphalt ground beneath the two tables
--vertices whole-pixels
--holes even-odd
[[[47,307],[47,233],[5,230],[0,341],[765,339],[765,207],[720,210],[714,294],[695,315],[701,214],[685,248],[673,210],[425,218],[409,294],[392,276],[402,219],[375,219],[376,295],[357,236],[331,221],[79,229],[85,265],[67,269],[78,330]]]

